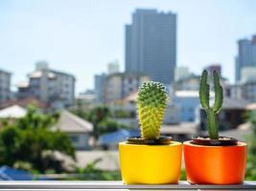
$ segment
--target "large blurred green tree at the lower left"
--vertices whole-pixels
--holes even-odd
[[[62,132],[52,131],[58,115],[43,115],[30,106],[25,117],[7,124],[0,131],[0,163],[15,166],[31,163],[32,169],[60,172],[61,162],[53,157],[59,151],[75,159],[71,140]]]

